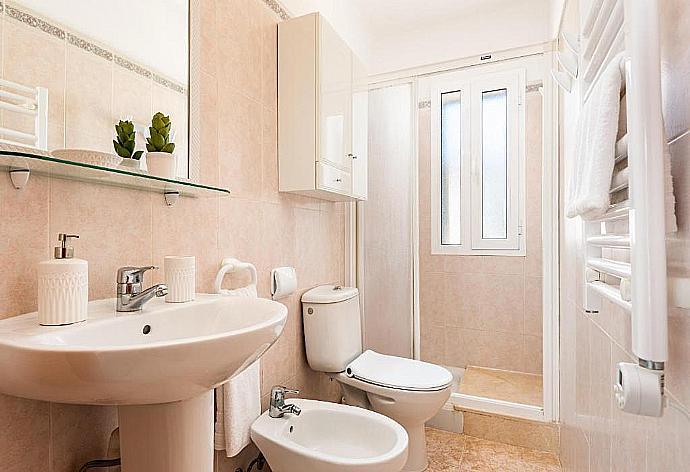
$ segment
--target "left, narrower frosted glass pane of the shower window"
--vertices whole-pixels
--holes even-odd
[[[461,96],[441,94],[441,244],[462,244],[461,222]]]

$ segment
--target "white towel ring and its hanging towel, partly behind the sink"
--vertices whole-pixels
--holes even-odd
[[[249,270],[252,281],[246,287],[235,290],[220,288],[227,272]],[[216,292],[239,297],[256,297],[256,268],[234,259],[226,259],[216,278]],[[249,445],[251,425],[261,415],[261,360],[217,387],[214,449],[225,450],[227,457],[234,457]]]

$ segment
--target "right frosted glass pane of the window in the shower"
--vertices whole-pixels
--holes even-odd
[[[508,237],[508,91],[482,93],[482,238]]]

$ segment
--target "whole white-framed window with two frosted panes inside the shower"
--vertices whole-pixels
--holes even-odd
[[[431,253],[524,256],[524,71],[457,78],[430,84]]]

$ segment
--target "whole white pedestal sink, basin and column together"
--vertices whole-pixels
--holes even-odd
[[[211,472],[213,388],[278,339],[287,308],[265,299],[197,295],[121,314],[39,326],[0,321],[0,392],[59,403],[117,405],[123,472]]]

